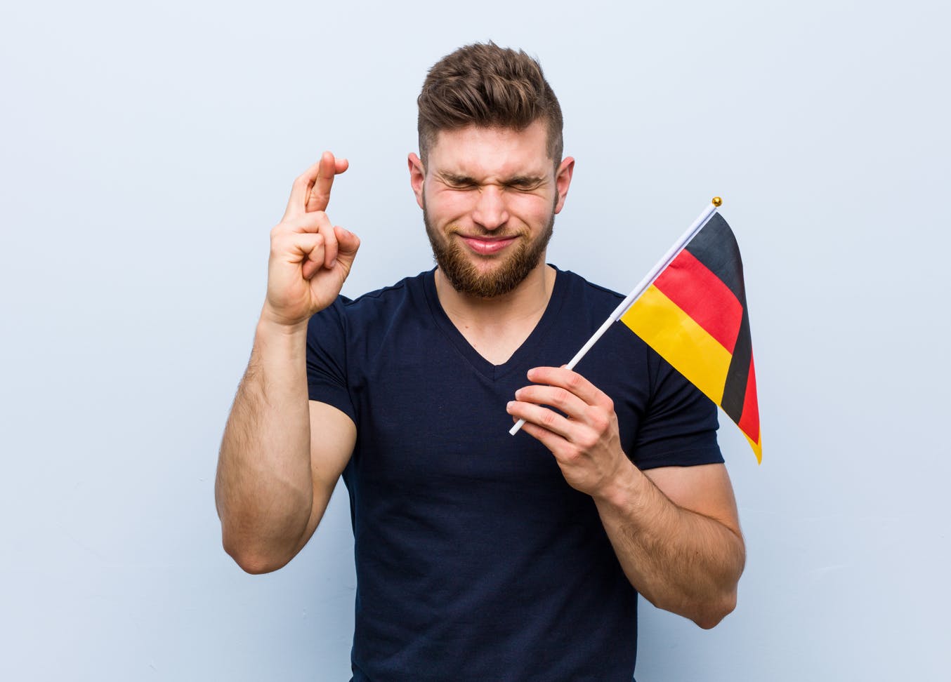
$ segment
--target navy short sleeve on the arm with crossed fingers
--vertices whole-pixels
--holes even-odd
[[[310,318],[307,325],[307,393],[357,422],[347,382],[346,298]]]

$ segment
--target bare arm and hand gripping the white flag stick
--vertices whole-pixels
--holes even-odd
[[[592,496],[617,559],[655,606],[711,628],[733,610],[746,550],[726,467],[642,473],[620,445],[611,399],[580,374],[535,368],[509,404],[566,481]],[[558,414],[551,406],[560,410]]]

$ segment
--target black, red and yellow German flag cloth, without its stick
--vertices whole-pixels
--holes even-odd
[[[763,461],[740,248],[714,214],[621,316],[747,436]]]

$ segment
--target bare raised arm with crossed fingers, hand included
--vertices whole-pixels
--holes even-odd
[[[310,539],[356,440],[349,417],[308,401],[305,361],[307,321],[340,293],[359,248],[323,213],[346,165],[324,153],[271,231],[267,297],[215,480],[224,548],[249,573],[281,568]]]

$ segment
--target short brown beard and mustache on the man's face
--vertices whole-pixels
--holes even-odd
[[[501,262],[491,271],[482,273],[479,272],[471,256],[467,257],[457,240],[448,239],[433,226],[426,212],[425,199],[423,199],[422,220],[426,225],[426,236],[429,237],[429,243],[433,247],[433,259],[439,266],[439,270],[446,275],[446,279],[453,285],[456,292],[479,298],[493,298],[508,294],[525,281],[525,278],[541,262],[541,257],[545,254],[554,231],[553,210],[548,225],[538,237],[532,241],[519,239],[518,243],[513,245],[514,251],[508,256],[490,256],[491,259],[499,259]],[[448,232],[452,235],[456,231],[450,226]],[[500,231],[500,234],[485,232],[484,236],[513,237],[514,235]]]

